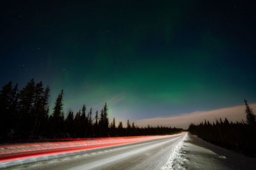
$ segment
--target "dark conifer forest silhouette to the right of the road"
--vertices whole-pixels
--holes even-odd
[[[188,131],[215,145],[256,157],[256,116],[245,99],[244,104],[246,122],[229,122],[227,118],[213,123],[205,120],[190,124]]]

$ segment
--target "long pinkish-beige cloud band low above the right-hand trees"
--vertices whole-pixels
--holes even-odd
[[[256,103],[250,104],[250,107],[253,111],[256,110]],[[244,113],[245,106],[234,106],[231,108],[221,108],[218,110],[210,110],[210,111],[195,111],[193,113],[184,113],[182,115],[173,116],[173,117],[156,117],[156,118],[148,118],[137,120],[135,123],[138,126],[147,126],[148,124],[157,126],[157,125],[165,125],[165,126],[175,126],[182,127],[187,129],[189,124],[191,123],[200,123],[204,120],[209,120],[209,122],[214,122],[216,119],[224,119],[228,118],[229,121],[236,122],[241,120],[246,120],[246,114]],[[253,112],[255,113],[255,112]]]

